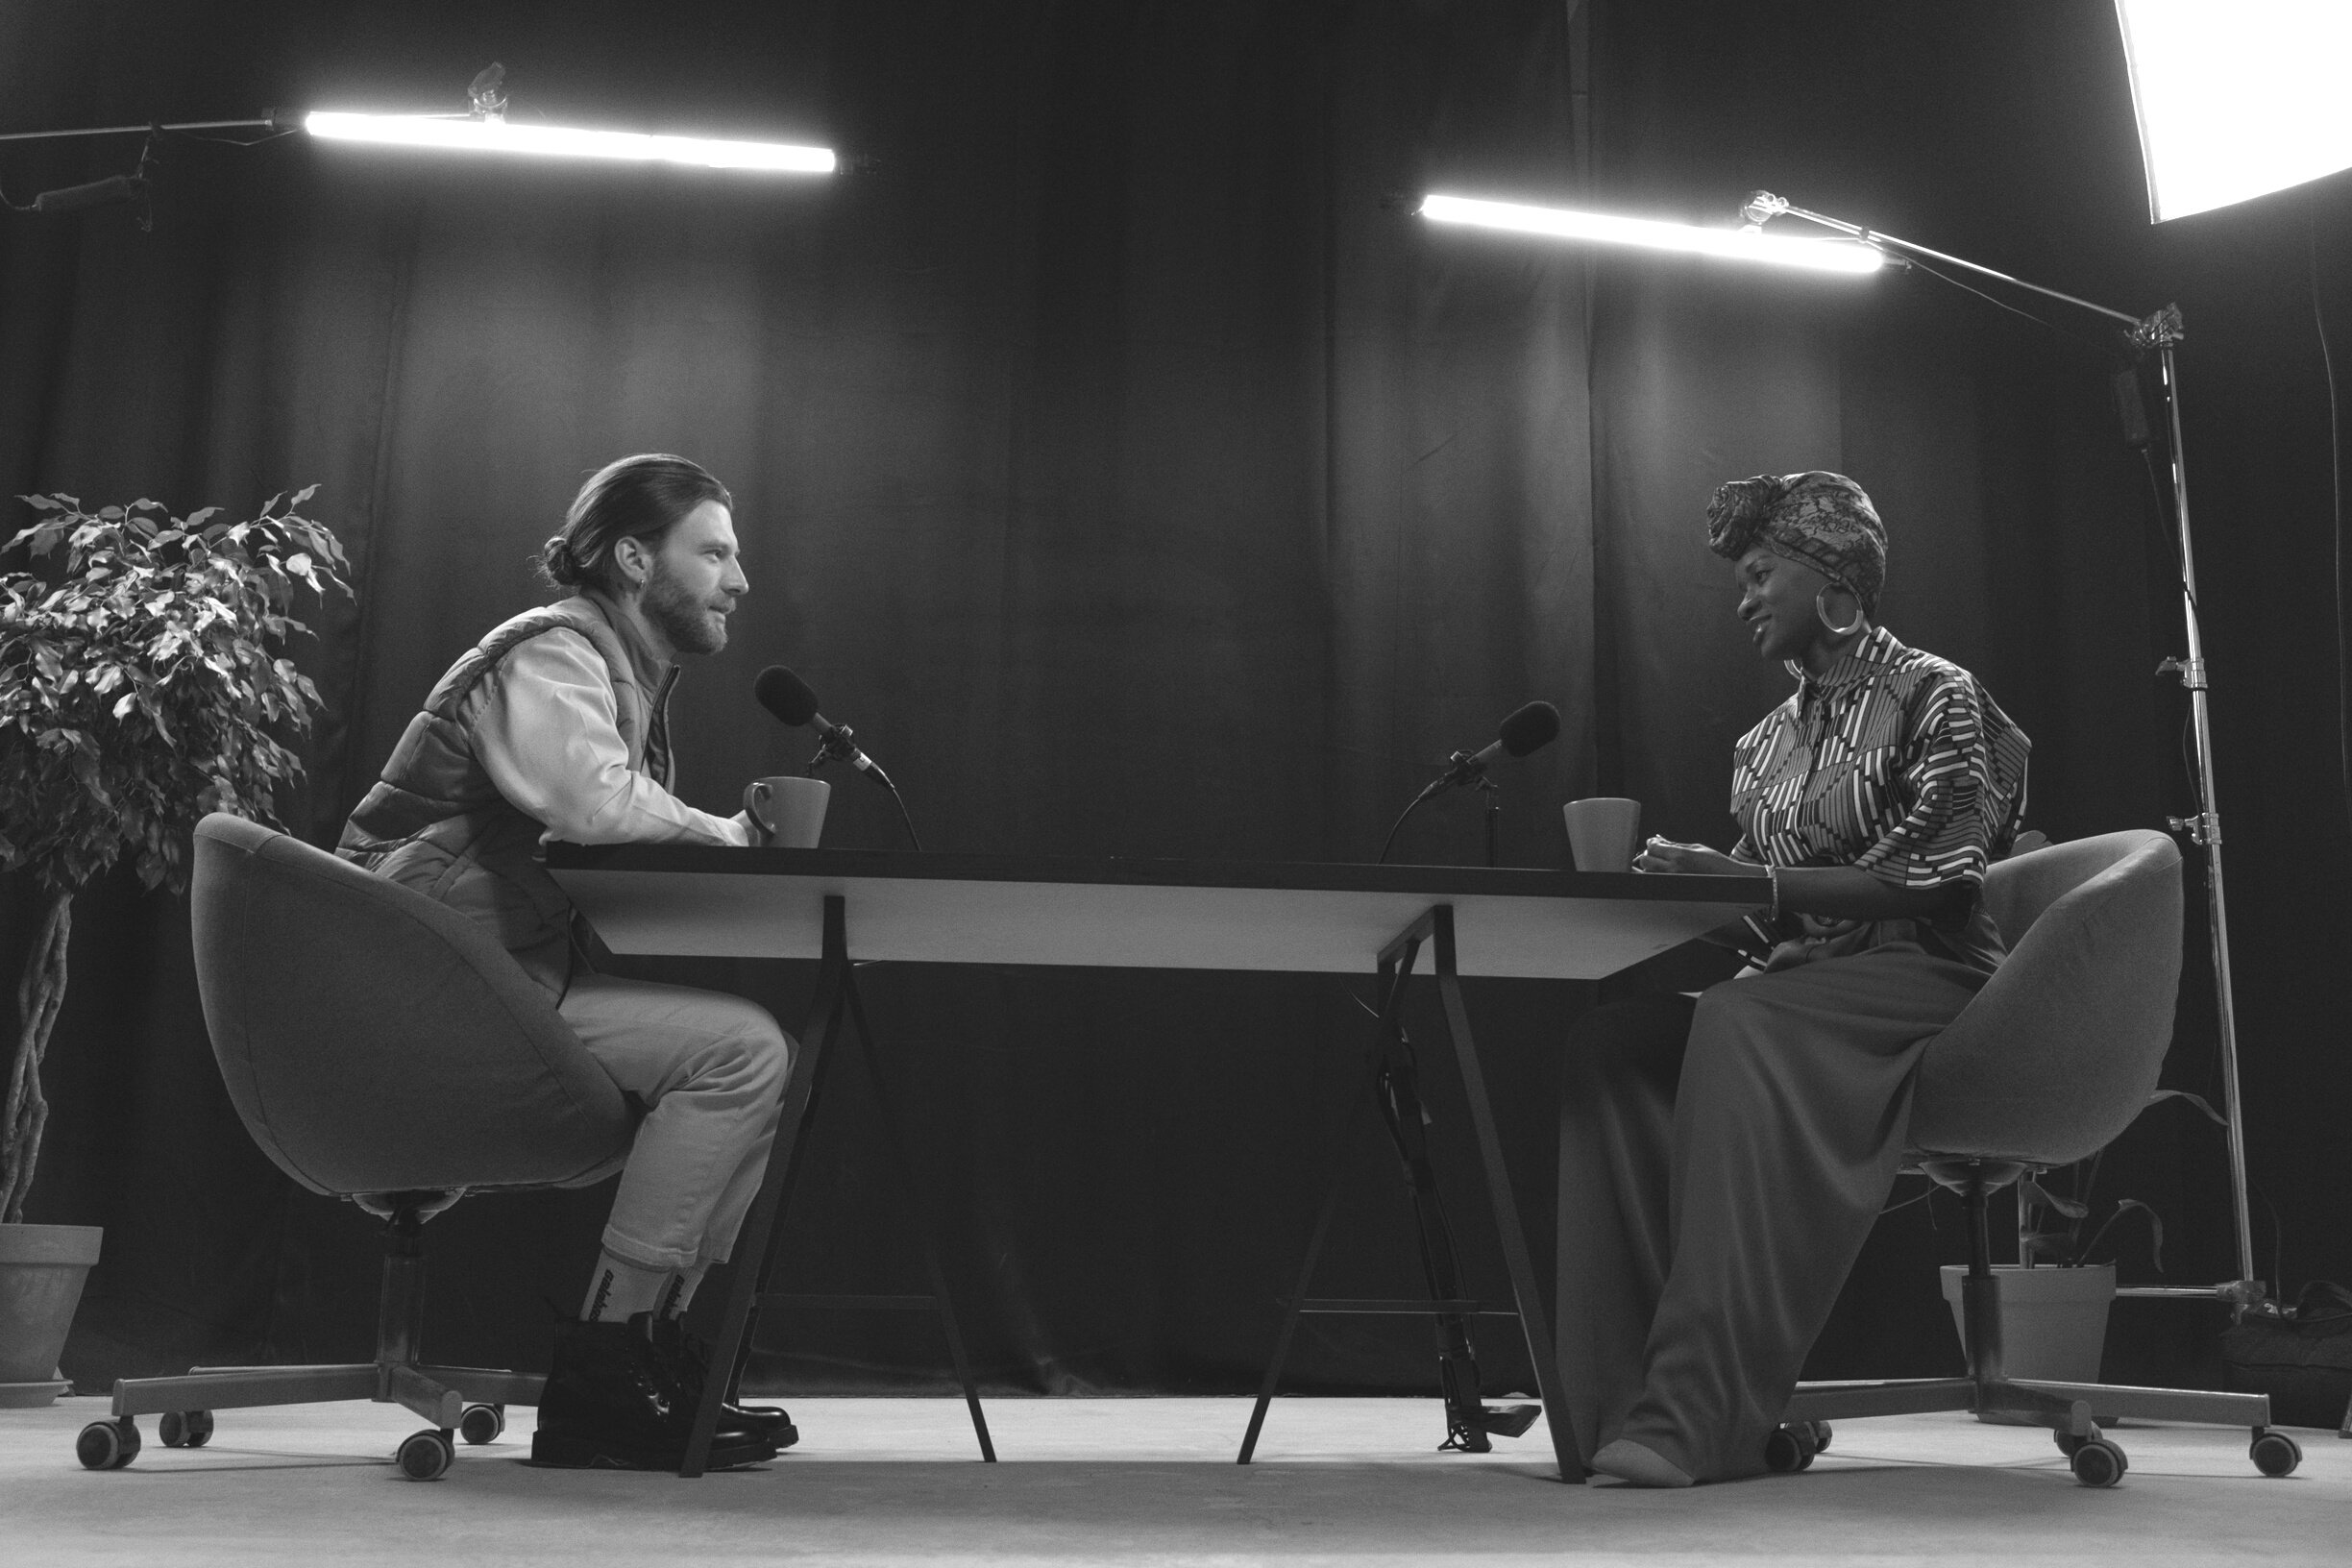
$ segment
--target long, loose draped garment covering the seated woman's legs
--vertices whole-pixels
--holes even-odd
[[[1764,1469],[1893,1187],[1912,1070],[1985,976],[1912,943],[1639,997],[1569,1034],[1559,1368],[1590,1460]]]

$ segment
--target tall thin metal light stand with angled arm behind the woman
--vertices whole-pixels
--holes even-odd
[[[2056,299],[2067,306],[2091,310],[2093,315],[2103,315],[2110,322],[2119,322],[2136,348],[2154,350],[2157,355],[2157,369],[2164,383],[2166,425],[2171,433],[2173,524],[2180,536],[2180,597],[2187,621],[2187,658],[2166,658],[2157,665],[2157,675],[2180,677],[2180,684],[2190,693],[2190,724],[2197,738],[2197,766],[2194,778],[2190,780],[2197,792],[2197,813],[2169,818],[2169,825],[2173,832],[2185,835],[2190,844],[2206,851],[2206,919],[2213,933],[2213,1009],[2220,1027],[2223,1124],[2230,1135],[2230,1199],[2232,1218],[2237,1220],[2237,1279],[2218,1286],[2126,1286],[2119,1288],[2117,1295],[2225,1300],[2239,1309],[2251,1307],[2263,1300],[2265,1284],[2253,1272],[2253,1227],[2246,1204],[2246,1119],[2239,1107],[2237,1088],[2237,1009],[2230,990],[2230,912],[2223,896],[2220,806],[2213,797],[2213,724],[2209,712],[2204,635],[2197,625],[2197,552],[2190,536],[2190,475],[2180,435],[2180,364],[2173,355],[2173,348],[2183,336],[2187,336],[2180,322],[2180,306],[2164,306],[2143,320],[2122,310],[2110,310],[2107,306],[2096,306],[2089,299],[2077,299],[2072,294],[2060,294],[2058,289],[2046,289],[2037,282],[2025,282],[2023,277],[2011,277],[2009,273],[1994,273],[1987,266],[1962,261],[1959,256],[1931,252],[1929,247],[1912,244],[1910,240],[1898,240],[1858,223],[1792,207],[1788,200],[1766,190],[1752,193],[1748,205],[1740,209],[1740,216],[1755,228],[1762,228],[1771,219],[1780,216],[1804,219],[1806,223],[1818,223],[1842,235],[1851,235],[1870,249],[1886,254],[1891,261],[1919,256],[1924,261],[1966,268],[1980,277],[1992,277],[1994,282],[2006,282],[2016,289],[2027,289],[2032,294],[2042,294],[2044,299]]]

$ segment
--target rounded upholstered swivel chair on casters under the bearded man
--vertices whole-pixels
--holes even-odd
[[[421,1359],[423,1222],[468,1192],[614,1173],[630,1105],[482,926],[299,839],[207,816],[193,914],[205,1027],[245,1128],[310,1192],[383,1220],[376,1359],[125,1378],[75,1455],[129,1465],[134,1415],[162,1415],[162,1441],[195,1448],[214,1410],[369,1399],[430,1422],[395,1458],[440,1479],[452,1429],[494,1441],[506,1406],[536,1406],[546,1380]]]

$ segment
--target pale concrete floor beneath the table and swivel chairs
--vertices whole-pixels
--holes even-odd
[[[2131,1474],[2074,1486],[2049,1436],[1915,1415],[1842,1422],[1802,1476],[1686,1493],[1559,1486],[1536,1436],[1432,1453],[1435,1401],[1284,1399],[1232,1465],[1235,1399],[1000,1399],[1004,1462],[955,1401],[793,1401],[802,1446],[701,1481],[517,1465],[529,1410],[447,1479],[402,1481],[388,1406],[223,1410],[207,1448],[141,1420],[85,1472],[103,1399],[0,1410],[0,1561],[136,1563],[2352,1563],[2352,1443],[2296,1432],[2270,1481],[2246,1439],[2126,1427]]]

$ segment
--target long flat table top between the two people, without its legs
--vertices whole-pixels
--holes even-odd
[[[1755,877],[710,844],[550,844],[548,870],[621,954],[814,959],[837,893],[854,959],[910,964],[1369,973],[1444,903],[1461,973],[1597,980],[1764,903]]]

